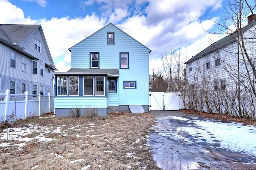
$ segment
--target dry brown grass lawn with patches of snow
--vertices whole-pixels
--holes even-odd
[[[1,170],[158,170],[147,138],[152,113],[31,117],[0,131]]]

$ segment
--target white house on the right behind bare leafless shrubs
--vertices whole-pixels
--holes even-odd
[[[189,109],[255,117],[255,23],[248,16],[248,25],[185,62]]]

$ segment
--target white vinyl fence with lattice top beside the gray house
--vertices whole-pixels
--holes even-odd
[[[17,120],[52,112],[54,99],[50,93],[48,96],[28,94],[28,91],[25,94],[10,94],[8,89],[5,94],[0,93],[0,121],[5,121],[11,116]]]

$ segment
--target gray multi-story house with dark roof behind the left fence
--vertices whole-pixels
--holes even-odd
[[[53,94],[54,66],[41,25],[0,24],[0,93]]]

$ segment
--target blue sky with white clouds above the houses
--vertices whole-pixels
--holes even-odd
[[[0,23],[40,24],[54,64],[71,68],[68,48],[113,23],[152,50],[150,73],[161,56],[181,50],[182,62],[220,39],[216,21],[225,0],[0,0]]]

